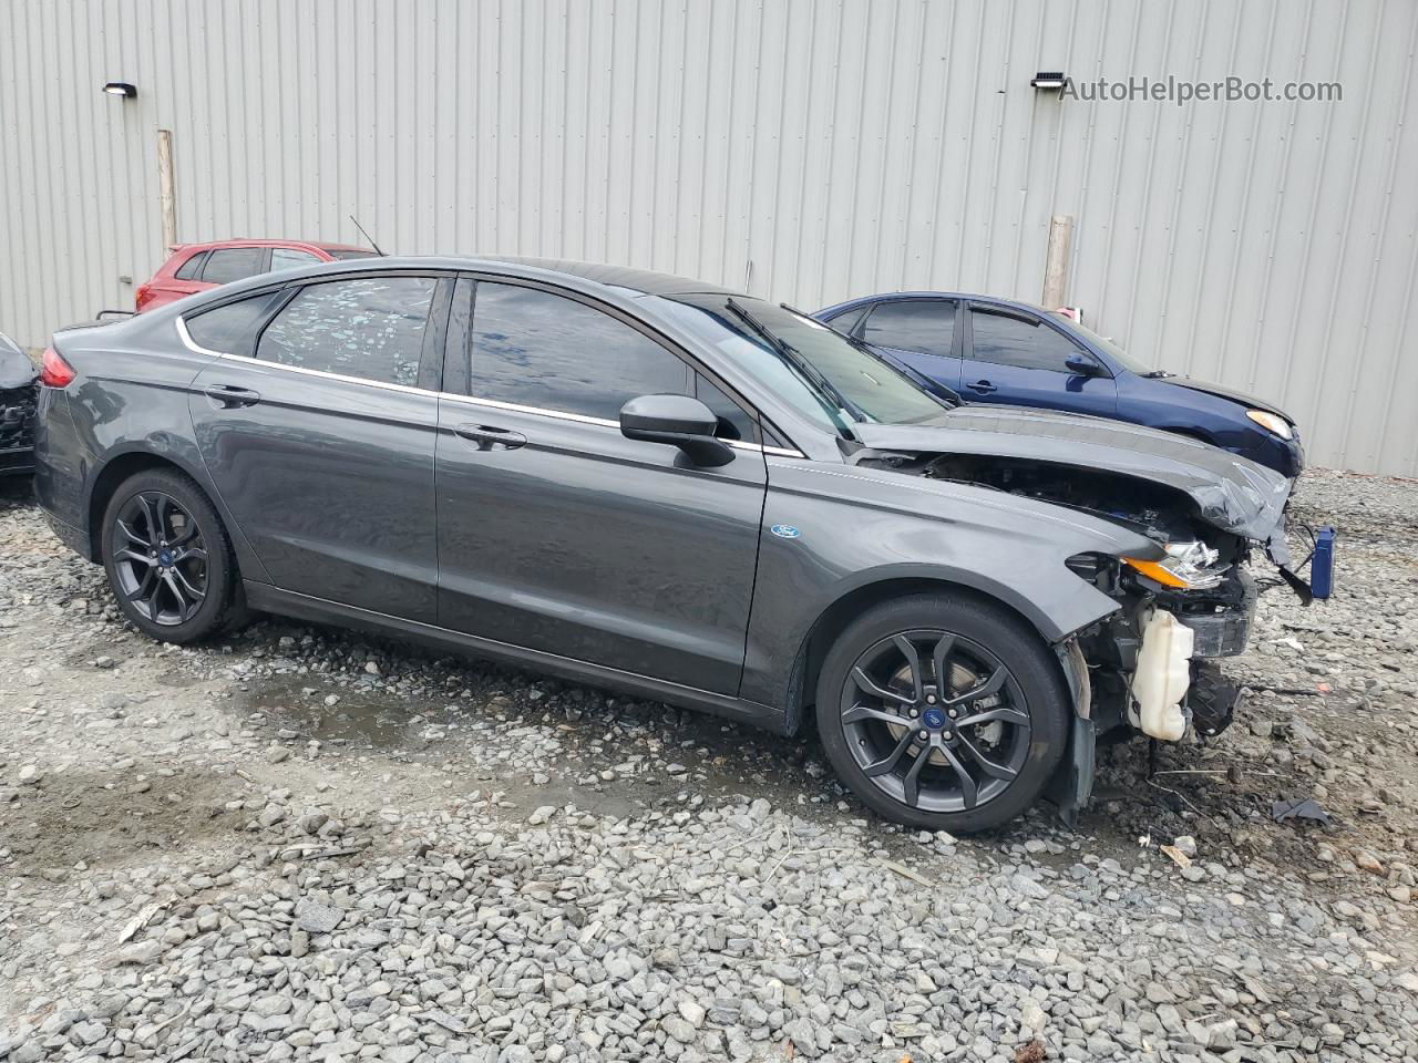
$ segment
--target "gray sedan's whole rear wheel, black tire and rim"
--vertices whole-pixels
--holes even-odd
[[[104,570],[118,607],[145,635],[186,645],[228,631],[240,619],[231,537],[189,476],[169,469],[129,476],[104,512],[101,534]],[[150,597],[143,597],[149,587]]]

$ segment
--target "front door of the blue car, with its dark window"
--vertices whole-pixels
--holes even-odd
[[[1117,383],[1092,354],[1029,313],[974,303],[960,395],[967,403],[1005,403],[1115,417]],[[1069,364],[1083,359],[1095,374]]]

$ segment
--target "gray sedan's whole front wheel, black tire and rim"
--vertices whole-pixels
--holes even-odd
[[[1029,808],[1064,755],[1068,714],[1038,632],[964,594],[868,609],[838,635],[817,682],[818,733],[838,778],[885,819],[927,831],[988,831]]]

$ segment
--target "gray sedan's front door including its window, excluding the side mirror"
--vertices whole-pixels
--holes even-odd
[[[438,414],[440,625],[737,693],[767,485],[752,412],[579,296],[462,281],[454,322]],[[705,400],[735,459],[699,468],[627,439],[620,408],[642,394]]]

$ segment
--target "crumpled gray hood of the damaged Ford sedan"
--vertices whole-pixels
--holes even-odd
[[[929,425],[855,428],[878,451],[1021,458],[1161,483],[1190,495],[1207,523],[1269,544],[1272,558],[1276,547],[1283,556],[1290,482],[1197,439],[1100,417],[1008,405],[964,405]]]

